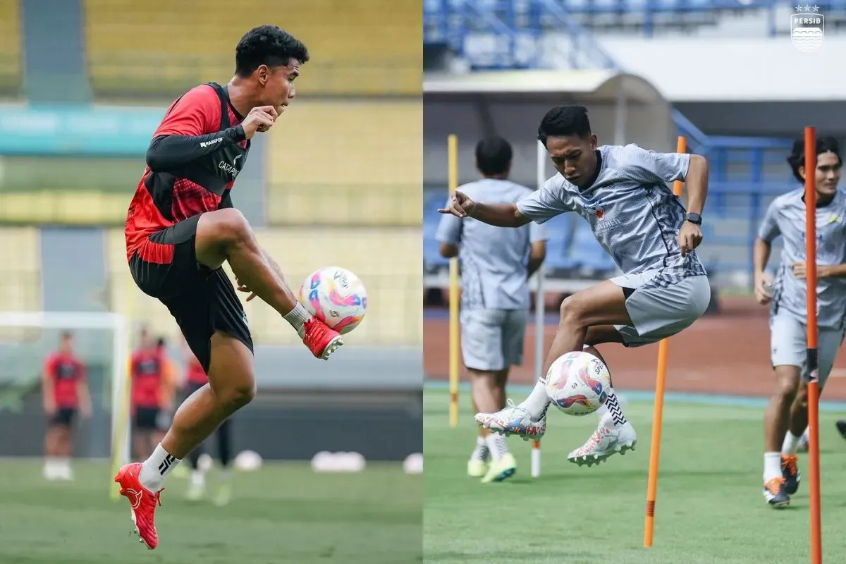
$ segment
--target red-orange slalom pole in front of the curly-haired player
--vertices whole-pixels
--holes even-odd
[[[808,308],[808,469],[810,470],[810,561],[822,562],[820,499],[820,380],[816,352],[816,129],[805,128],[805,277]]]

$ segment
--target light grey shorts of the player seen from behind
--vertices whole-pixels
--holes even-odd
[[[526,309],[464,309],[461,352],[472,370],[505,370],[523,364]]]

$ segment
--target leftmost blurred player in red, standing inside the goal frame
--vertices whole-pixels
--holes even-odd
[[[41,375],[47,435],[44,438],[44,477],[73,479],[70,457],[73,452],[73,425],[76,414],[91,417],[91,394],[85,377],[85,364],[74,354],[74,335],[59,338],[59,348],[44,361]]]

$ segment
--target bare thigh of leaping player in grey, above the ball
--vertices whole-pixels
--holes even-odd
[[[560,323],[562,326],[587,328],[629,325],[631,318],[629,318],[629,311],[626,309],[626,296],[623,288],[614,282],[605,280],[595,286],[574,293],[569,298],[565,298],[561,304]],[[596,334],[597,336],[610,335],[604,330]]]

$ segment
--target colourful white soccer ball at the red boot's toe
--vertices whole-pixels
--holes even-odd
[[[305,278],[299,288],[299,302],[335,331],[349,333],[365,318],[367,291],[352,272],[327,266]]]

